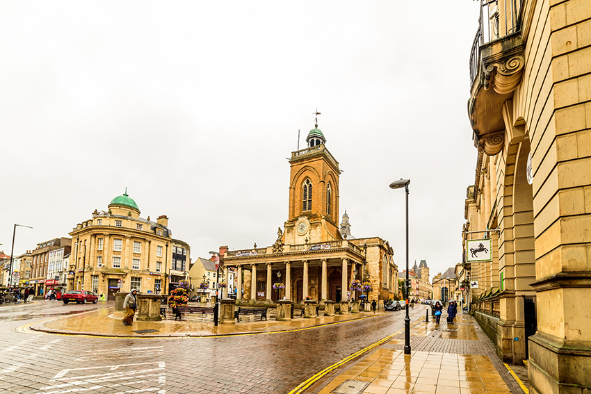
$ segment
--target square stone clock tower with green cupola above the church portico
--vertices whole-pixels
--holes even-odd
[[[306,142],[307,148],[291,152],[289,161],[289,219],[284,238],[289,245],[342,239],[338,224],[339,162],[326,149],[317,117]]]

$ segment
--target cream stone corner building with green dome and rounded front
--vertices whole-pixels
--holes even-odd
[[[68,290],[88,290],[115,299],[119,290],[165,294],[188,279],[190,247],[172,238],[168,217],[156,222],[140,217],[138,204],[126,191],[107,211],[76,224],[70,232],[72,255]]]

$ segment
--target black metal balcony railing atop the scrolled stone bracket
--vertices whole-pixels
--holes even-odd
[[[519,31],[522,0],[480,0],[478,30],[470,52],[470,85],[478,75],[480,47]]]

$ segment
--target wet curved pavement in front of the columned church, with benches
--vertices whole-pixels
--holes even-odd
[[[178,336],[229,336],[239,334],[261,334],[277,331],[293,331],[330,325],[337,322],[371,318],[383,313],[349,313],[320,318],[294,318],[289,322],[278,322],[273,311],[268,313],[268,321],[260,321],[259,316],[241,316],[241,322],[234,325],[213,325],[211,315],[205,318],[195,318],[185,315],[184,320],[163,320],[161,322],[133,322],[131,326],[122,323],[124,312],[115,311],[113,307],[97,309],[86,313],[79,313],[67,317],[54,318],[33,323],[30,326],[35,331],[53,334],[78,334],[91,336],[115,337],[178,337]],[[244,321],[243,321],[244,320]]]

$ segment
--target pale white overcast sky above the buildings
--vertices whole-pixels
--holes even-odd
[[[478,2],[2,1],[0,250],[67,236],[125,188],[193,260],[272,245],[318,126],[340,212],[431,277],[461,261]]]

